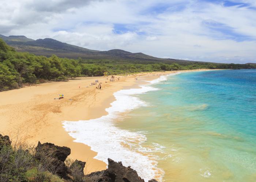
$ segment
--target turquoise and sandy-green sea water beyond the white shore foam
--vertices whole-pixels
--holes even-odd
[[[143,132],[165,181],[256,181],[256,70],[188,72],[135,95],[117,127]]]

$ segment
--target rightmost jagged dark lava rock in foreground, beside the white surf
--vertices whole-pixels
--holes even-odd
[[[125,167],[122,162],[108,159],[108,169],[86,175],[87,178],[97,178],[97,182],[144,182],[131,166]],[[149,182],[157,182],[151,179]]]

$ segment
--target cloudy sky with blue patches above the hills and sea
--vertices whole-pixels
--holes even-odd
[[[256,0],[0,0],[0,34],[159,58],[256,63]]]

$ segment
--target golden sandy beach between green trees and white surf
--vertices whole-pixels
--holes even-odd
[[[9,135],[12,141],[21,138],[32,145],[37,145],[40,141],[67,146],[71,148],[69,158],[87,162],[86,174],[103,170],[106,163],[94,159],[97,153],[90,150],[89,146],[73,142],[74,138],[68,135],[61,122],[88,120],[106,115],[105,108],[114,101],[114,92],[136,88],[139,84],[146,84],[143,80],[153,80],[158,78],[159,74],[169,73],[171,71],[118,75],[115,76],[115,82],[109,82],[110,76],[108,79],[76,78],[68,82],[43,83],[0,92],[0,132]],[[89,86],[95,80],[102,83],[101,90],[97,89],[96,85]],[[54,99],[58,98],[59,94],[63,94],[64,99]]]

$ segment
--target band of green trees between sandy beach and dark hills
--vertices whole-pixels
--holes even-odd
[[[47,80],[68,80],[79,76],[102,76],[135,72],[208,69],[256,68],[256,64],[220,64],[207,62],[173,63],[161,61],[128,61],[111,59],[67,59],[52,55],[36,56],[17,52],[0,39],[0,91],[22,87],[24,84]]]

